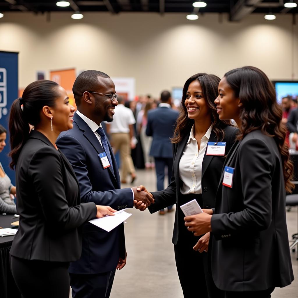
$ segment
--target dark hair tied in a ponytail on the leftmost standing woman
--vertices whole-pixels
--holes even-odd
[[[9,116],[11,169],[15,167],[21,149],[29,137],[29,124],[35,126],[40,122],[40,111],[45,105],[55,105],[58,86],[49,80],[35,81],[26,87],[23,97],[13,102]]]

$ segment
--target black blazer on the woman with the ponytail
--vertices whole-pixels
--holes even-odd
[[[10,254],[27,260],[70,262],[82,252],[78,229],[95,218],[94,203],[80,204],[79,185],[66,157],[31,131],[16,164],[19,229]]]

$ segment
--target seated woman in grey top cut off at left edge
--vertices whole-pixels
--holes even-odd
[[[0,125],[0,153],[6,146],[6,129]],[[4,168],[0,162],[0,212],[2,213],[17,213],[14,202],[16,194],[15,186],[11,184],[10,178],[5,174]]]

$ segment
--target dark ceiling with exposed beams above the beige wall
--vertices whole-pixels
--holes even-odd
[[[33,11],[100,11],[110,13],[153,12],[153,13],[229,13],[231,20],[240,20],[250,13],[298,13],[298,8],[283,6],[285,0],[204,0],[207,6],[195,9],[195,0],[69,0],[69,7],[56,6],[56,0],[0,0],[0,12]],[[198,1],[198,0],[196,0]],[[297,3],[298,0],[294,0]],[[287,1],[286,1],[287,2]]]

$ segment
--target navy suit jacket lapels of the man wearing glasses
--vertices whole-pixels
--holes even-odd
[[[97,151],[97,154],[103,153],[105,150],[103,149],[103,146],[100,145],[100,142],[98,141],[97,137],[95,136],[94,132],[91,130],[89,125],[77,114],[74,114],[74,122],[77,124],[78,128],[83,131],[83,135],[86,137],[86,139],[90,142],[90,144],[94,147],[94,149]],[[108,142],[108,141],[107,141]],[[109,144],[110,154],[113,162],[113,167],[115,170],[117,170],[117,167],[115,167],[116,160],[114,158],[113,150],[111,148],[111,145]],[[112,167],[108,167],[113,177],[115,177],[115,173],[112,170]]]

